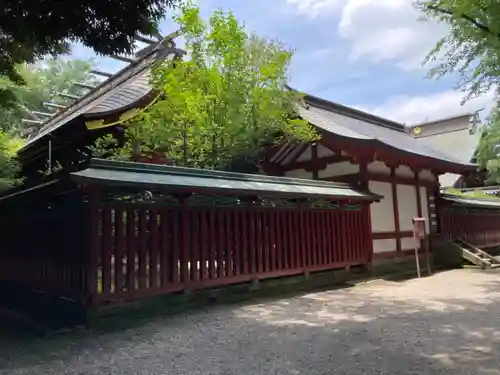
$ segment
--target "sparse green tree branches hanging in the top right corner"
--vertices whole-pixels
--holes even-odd
[[[437,65],[432,77],[458,73],[468,100],[500,81],[500,2],[493,0],[421,0],[427,17],[450,25],[450,32],[429,53]]]

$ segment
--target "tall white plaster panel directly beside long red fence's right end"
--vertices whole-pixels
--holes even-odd
[[[394,206],[392,204],[392,187],[388,182],[370,181],[368,187],[371,192],[382,195],[380,202],[370,205],[372,232],[394,232]]]

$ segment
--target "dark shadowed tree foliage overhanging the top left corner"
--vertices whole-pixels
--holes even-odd
[[[0,13],[0,76],[20,83],[17,64],[68,51],[69,42],[80,42],[98,54],[130,53],[136,34],[156,34],[166,9],[176,2],[5,0]]]

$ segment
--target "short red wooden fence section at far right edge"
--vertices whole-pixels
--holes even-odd
[[[447,239],[463,239],[478,247],[500,245],[500,215],[443,210],[441,231]]]

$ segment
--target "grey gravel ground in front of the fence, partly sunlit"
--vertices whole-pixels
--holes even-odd
[[[0,339],[0,374],[500,374],[500,271],[155,319],[105,334]]]

